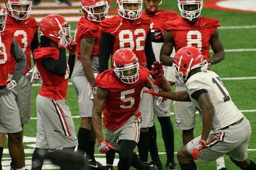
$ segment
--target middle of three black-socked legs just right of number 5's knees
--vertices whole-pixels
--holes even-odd
[[[161,162],[159,155],[158,155],[158,148],[157,148],[157,132],[156,132],[156,126],[149,127],[149,153],[151,155],[151,159],[154,162]]]

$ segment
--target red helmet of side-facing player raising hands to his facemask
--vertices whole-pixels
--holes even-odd
[[[47,36],[52,41],[60,41],[68,45],[72,39],[70,36],[70,25],[64,17],[58,14],[47,15],[40,22],[40,35]]]

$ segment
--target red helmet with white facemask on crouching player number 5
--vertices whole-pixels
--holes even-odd
[[[140,77],[140,66],[136,55],[128,48],[120,48],[112,56],[114,72],[121,81],[135,83]]]

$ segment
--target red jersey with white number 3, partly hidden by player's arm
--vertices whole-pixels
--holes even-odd
[[[9,15],[7,16],[5,29],[14,33],[14,37],[17,39],[17,42],[26,55],[27,64],[24,74],[28,73],[29,69],[31,69],[31,42],[33,41],[37,27],[38,24],[36,23],[35,18],[29,17],[21,22],[16,22],[12,17]],[[9,67],[9,74],[13,74],[15,64],[16,62],[12,57]]]

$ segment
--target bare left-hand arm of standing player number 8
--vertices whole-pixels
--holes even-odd
[[[172,66],[173,58],[170,57],[174,46],[172,31],[164,33],[164,43],[160,51],[160,61],[164,66]]]

